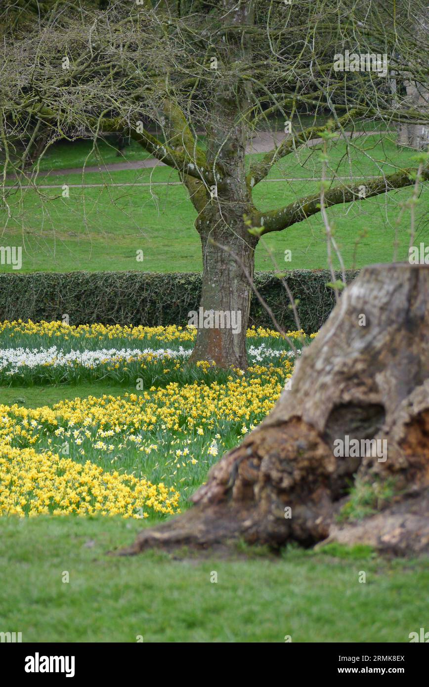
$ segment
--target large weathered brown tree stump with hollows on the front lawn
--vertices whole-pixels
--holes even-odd
[[[312,545],[329,535],[429,550],[428,297],[426,266],[362,270],[303,352],[292,390],[212,468],[196,505],[144,530],[124,553],[238,538]],[[371,455],[373,439],[383,451]],[[348,440],[360,453],[337,457],[338,442]],[[380,515],[340,528],[336,514],[356,475],[393,493]]]

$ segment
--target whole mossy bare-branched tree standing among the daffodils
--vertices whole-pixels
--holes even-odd
[[[368,119],[428,122],[426,98],[410,103],[401,89],[392,93],[388,78],[394,71],[397,83],[406,78],[427,92],[427,47],[413,30],[426,12],[423,1],[122,0],[101,7],[6,2],[3,204],[7,210],[7,174],[23,171],[22,150],[34,150],[40,131],[44,150],[78,135],[119,133],[137,141],[177,170],[198,213],[208,326],[198,330],[192,360],[245,368],[256,245],[321,209],[318,192],[261,212],[254,189],[278,161],[326,133],[347,143],[350,158],[358,143],[347,128],[360,131]],[[305,112],[314,124],[295,128],[294,117]],[[246,146],[272,115],[282,117],[286,135],[248,168]],[[329,121],[320,124],[316,115]],[[324,212],[362,199],[362,185],[367,200],[415,183],[411,169],[359,183],[330,172]],[[428,177],[424,166],[421,180]],[[210,322],[213,311],[239,313],[240,331]]]

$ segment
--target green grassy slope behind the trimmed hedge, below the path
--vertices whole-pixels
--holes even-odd
[[[412,151],[397,150],[393,142],[384,137],[377,144],[369,137],[360,144],[366,153],[352,151],[352,172],[355,183],[365,174],[394,172],[397,166],[409,166]],[[376,160],[389,159],[389,164]],[[78,157],[78,154],[76,153]],[[260,156],[248,156],[248,159]],[[80,155],[80,159],[82,155]],[[344,144],[331,150],[331,166],[338,176],[350,173]],[[107,158],[107,161],[111,161]],[[270,177],[320,176],[318,153],[301,152],[289,155],[272,170]],[[177,173],[169,168],[154,170],[125,170],[104,174],[85,174],[85,183],[149,183],[150,181],[177,181]],[[43,183],[82,183],[80,174],[69,177],[49,177]],[[281,207],[299,196],[318,192],[317,181],[275,181],[261,183],[254,191],[256,205],[261,210]],[[10,203],[14,220],[3,231],[4,245],[23,245],[23,271],[71,271],[76,269],[144,269],[146,271],[194,271],[201,269],[201,248],[193,222],[195,211],[180,185],[154,185],[152,187],[70,188],[69,199],[61,197],[61,188],[43,191],[45,201],[33,190],[25,192],[22,205],[18,196]],[[46,199],[55,200],[47,201]],[[344,262],[352,267],[355,242],[360,232],[367,230],[356,251],[358,267],[371,262],[390,261],[393,257],[395,221],[399,203],[410,197],[410,189],[379,196],[369,201],[338,206],[329,211],[336,225],[336,236]],[[422,218],[427,206],[427,192],[423,193],[417,208]],[[408,248],[409,212],[399,227],[399,258],[405,258]],[[23,227],[25,229],[23,230]],[[428,241],[429,229],[423,220],[417,221],[416,241]],[[268,236],[266,245],[256,250],[256,269],[272,269],[267,247],[274,250],[279,267],[288,269],[326,267],[326,244],[320,216]],[[136,251],[144,252],[144,261],[137,262]],[[284,262],[285,249],[292,250],[292,262]],[[1,265],[1,271],[10,271]]]

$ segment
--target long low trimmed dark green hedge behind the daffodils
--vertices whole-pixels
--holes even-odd
[[[358,271],[349,270],[347,281]],[[296,300],[301,325],[315,332],[334,304],[328,270],[295,270],[287,283]],[[285,329],[295,329],[293,313],[281,282],[273,273],[256,273],[254,284]],[[48,322],[69,315],[69,324],[142,324],[188,322],[197,310],[201,273],[70,272],[1,273],[0,320],[32,319]],[[270,316],[253,295],[250,325],[272,327]]]

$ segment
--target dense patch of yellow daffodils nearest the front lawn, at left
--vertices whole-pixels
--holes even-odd
[[[133,475],[33,448],[0,449],[0,515],[122,515],[178,512],[179,493]]]

